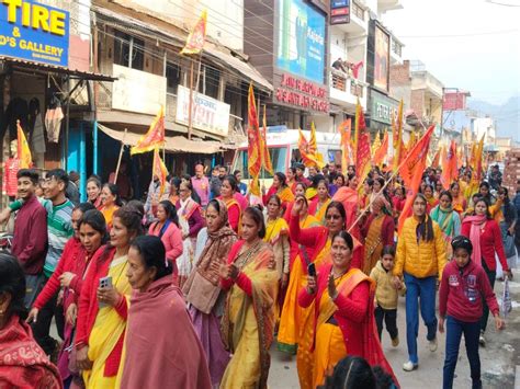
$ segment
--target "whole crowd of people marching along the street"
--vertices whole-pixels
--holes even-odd
[[[462,169],[444,190],[429,168],[397,232],[409,193],[384,165],[360,183],[354,167],[294,163],[261,196],[239,171],[204,171],[166,187],[154,176],[143,203],[95,175],[78,203],[64,170],[18,172],[0,213],[14,217],[0,253],[1,385],[265,388],[275,343],[296,355],[304,389],[396,388],[381,337],[399,346],[402,296],[403,369],[419,368],[420,308],[431,352],[446,332],[443,387],[462,334],[482,387],[489,312],[504,328],[494,285],[520,249],[520,182],[515,198],[496,174],[472,193]]]

